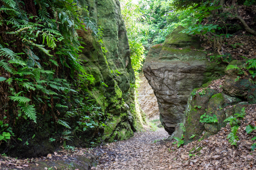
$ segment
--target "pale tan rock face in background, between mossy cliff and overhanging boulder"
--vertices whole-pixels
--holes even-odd
[[[140,107],[149,119],[159,119],[159,109],[154,91],[143,73],[140,74],[140,80],[140,87],[138,88]]]

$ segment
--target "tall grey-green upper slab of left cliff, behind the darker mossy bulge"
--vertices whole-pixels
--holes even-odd
[[[135,82],[131,65],[129,42],[124,20],[121,15],[119,0],[80,0],[90,18],[103,28],[103,43],[108,51],[106,57],[111,70],[118,70],[121,76],[115,81],[121,89],[124,100],[129,99],[130,81]],[[86,8],[87,7],[87,8]],[[106,74],[106,73],[105,73]]]

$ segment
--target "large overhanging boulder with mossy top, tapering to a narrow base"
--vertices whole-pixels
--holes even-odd
[[[179,33],[179,26],[166,37],[164,44],[150,48],[143,73],[156,95],[160,120],[172,134],[184,119],[188,96],[193,89],[224,74],[224,67],[209,63],[200,49],[199,37]]]

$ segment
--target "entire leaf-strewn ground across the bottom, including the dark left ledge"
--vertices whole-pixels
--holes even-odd
[[[0,167],[6,170],[58,170],[58,162],[63,161],[60,165],[64,164],[65,170],[83,170],[87,168],[76,167],[81,163],[81,159],[77,158],[83,156],[97,160],[90,164],[93,170],[255,170],[256,150],[252,151],[250,146],[256,132],[248,135],[245,127],[249,124],[256,125],[256,105],[245,107],[247,114],[241,120],[237,132],[237,146],[228,142],[230,125],[227,124],[216,135],[178,148],[174,140],[167,139],[169,135],[164,128],[157,126],[160,121],[153,120],[148,122],[149,125],[143,131],[135,133],[134,137],[126,141],[117,141],[96,148],[62,150],[36,159],[18,160],[2,157]]]

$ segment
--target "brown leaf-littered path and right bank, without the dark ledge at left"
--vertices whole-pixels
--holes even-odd
[[[201,141],[193,141],[177,148],[174,141],[166,141],[168,134],[163,128],[136,133],[126,141],[118,141],[104,146],[107,154],[101,156],[100,163],[92,169],[104,170],[159,170],[195,169],[228,170],[256,169],[256,150],[252,151],[251,138],[245,127],[255,126],[256,105],[246,106],[247,115],[241,120],[237,135],[237,146],[230,145],[227,136],[230,125],[221,128],[213,136]],[[160,140],[159,140],[160,139]]]

